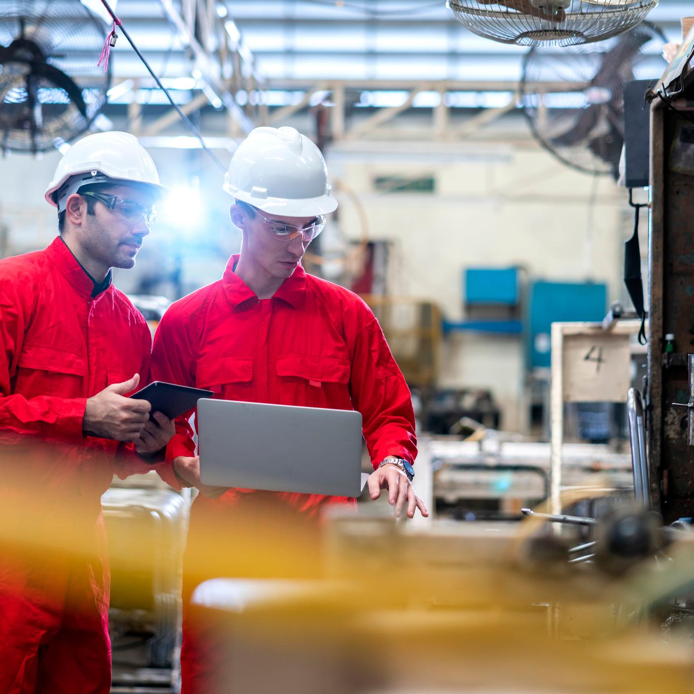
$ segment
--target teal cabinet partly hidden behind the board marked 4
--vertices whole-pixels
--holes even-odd
[[[530,368],[551,365],[552,323],[602,321],[606,312],[607,285],[595,282],[532,282],[527,321]]]

